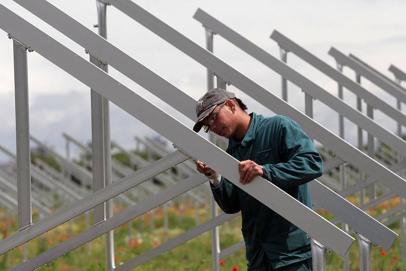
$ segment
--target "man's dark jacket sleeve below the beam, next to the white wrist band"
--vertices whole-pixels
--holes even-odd
[[[209,183],[214,199],[224,213],[235,214],[240,212],[241,206],[237,192],[238,188],[236,188],[223,176],[221,177],[221,183],[218,187],[214,187],[211,182]]]

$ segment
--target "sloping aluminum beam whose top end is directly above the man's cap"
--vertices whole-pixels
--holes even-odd
[[[351,107],[343,100],[330,94],[322,87],[310,81],[308,78],[302,76],[301,74],[287,66],[285,63],[281,62],[278,58],[259,48],[257,45],[250,42],[240,34],[236,33],[222,22],[218,21],[201,9],[198,9],[196,11],[193,18],[201,22],[206,27],[212,29],[212,31],[216,32],[218,35],[222,36],[235,46],[253,56],[265,66],[281,74],[284,78],[299,86],[305,93],[309,94],[311,97],[326,104],[331,109],[340,113],[354,124],[362,127],[365,131],[368,131],[370,134],[373,134],[375,137],[379,138],[382,142],[385,142],[392,148],[397,149],[400,153],[406,154],[406,142],[403,139],[401,139],[388,129],[380,126],[378,123],[373,121],[373,119],[370,119],[369,117],[361,114],[355,108]],[[235,85],[234,82],[236,79],[224,77],[224,75],[221,75],[218,70],[222,72],[223,69],[214,70],[217,76],[220,76],[221,78],[227,78],[225,81],[232,82]],[[251,97],[253,92],[254,91],[251,90],[249,92]],[[257,101],[260,102],[259,100]],[[272,110],[275,111],[273,108]],[[314,137],[312,136],[312,138]]]

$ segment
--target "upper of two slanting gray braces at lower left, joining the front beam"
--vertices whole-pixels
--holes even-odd
[[[0,9],[1,10],[1,9]],[[1,13],[1,12],[0,12]],[[94,192],[93,194],[78,200],[71,205],[60,210],[58,213],[44,218],[34,224],[32,224],[26,230],[20,231],[13,235],[10,235],[6,239],[0,241],[0,254],[3,254],[13,248],[16,248],[28,240],[37,237],[38,235],[53,229],[60,224],[71,220],[83,214],[87,210],[97,206],[100,203],[109,200],[128,189],[145,182],[145,180],[159,174],[160,172],[171,168],[173,165],[183,162],[188,159],[187,156],[181,154],[179,151],[164,157],[149,166],[134,172],[133,174],[121,179],[108,187]]]

